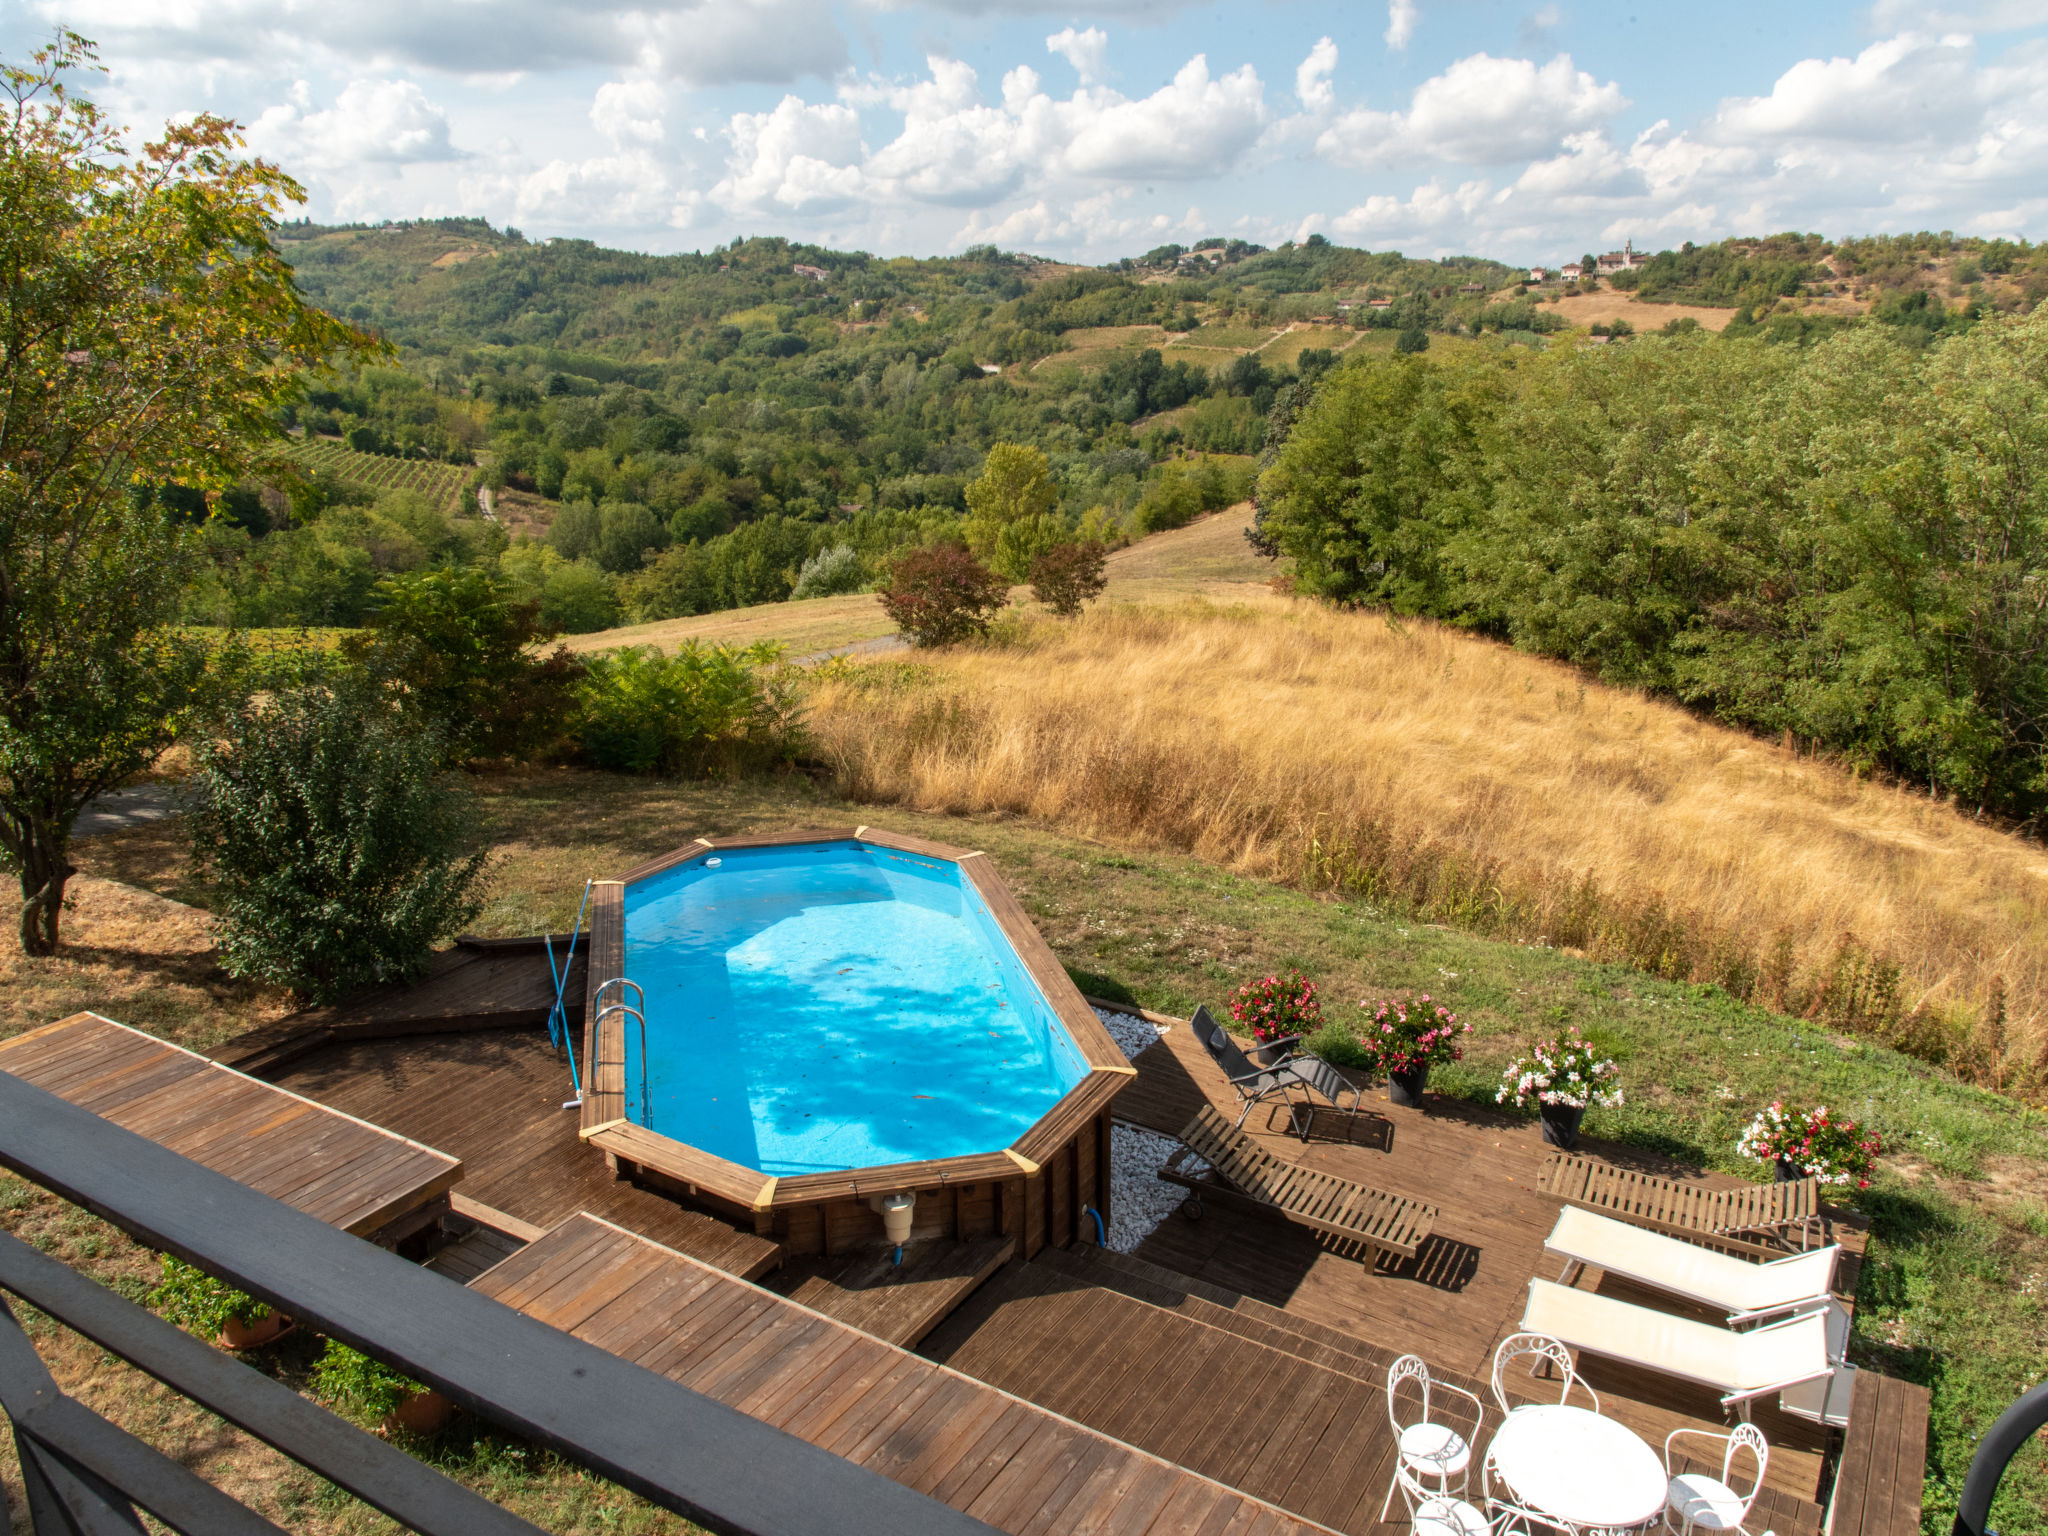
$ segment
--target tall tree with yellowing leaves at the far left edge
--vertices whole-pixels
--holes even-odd
[[[170,627],[197,526],[135,487],[240,485],[301,369],[362,346],[270,246],[297,184],[211,115],[131,152],[63,84],[90,63],[59,33],[0,66],[0,850],[29,954],[57,948],[74,817],[205,670]]]

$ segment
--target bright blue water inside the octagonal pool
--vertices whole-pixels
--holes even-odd
[[[764,1174],[999,1151],[1087,1063],[956,864],[733,848],[625,891],[653,1130]],[[639,1106],[627,1030],[627,1100]]]

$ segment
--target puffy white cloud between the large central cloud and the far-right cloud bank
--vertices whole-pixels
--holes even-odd
[[[1473,53],[1423,80],[1405,113],[1352,109],[1317,139],[1317,150],[1360,168],[1411,158],[1501,166],[1554,150],[1567,133],[1624,106],[1618,84],[1599,84],[1569,53],[1544,66]]]

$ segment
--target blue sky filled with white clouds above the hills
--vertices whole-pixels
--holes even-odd
[[[317,221],[1079,262],[2048,238],[2048,0],[0,0],[0,55],[59,25],[119,121],[233,117]]]

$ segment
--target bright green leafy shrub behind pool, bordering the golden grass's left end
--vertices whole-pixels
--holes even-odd
[[[801,739],[801,678],[782,647],[625,645],[578,684],[584,756],[627,774],[735,772],[786,760]]]

